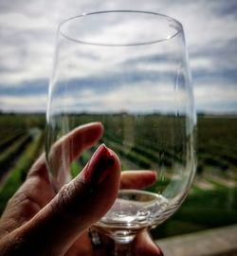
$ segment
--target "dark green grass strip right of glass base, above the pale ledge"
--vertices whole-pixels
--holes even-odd
[[[191,193],[168,222],[152,230],[155,238],[191,233],[237,223],[237,189]]]

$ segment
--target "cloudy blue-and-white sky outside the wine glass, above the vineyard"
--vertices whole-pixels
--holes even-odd
[[[0,0],[0,111],[45,112],[59,23],[111,9],[155,11],[180,21],[196,110],[237,113],[236,0]]]

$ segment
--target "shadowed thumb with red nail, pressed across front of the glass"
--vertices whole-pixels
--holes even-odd
[[[113,205],[119,174],[118,156],[100,145],[82,173],[64,185],[26,225],[14,231],[21,241],[18,249],[22,247],[24,255],[64,255],[82,232]]]

